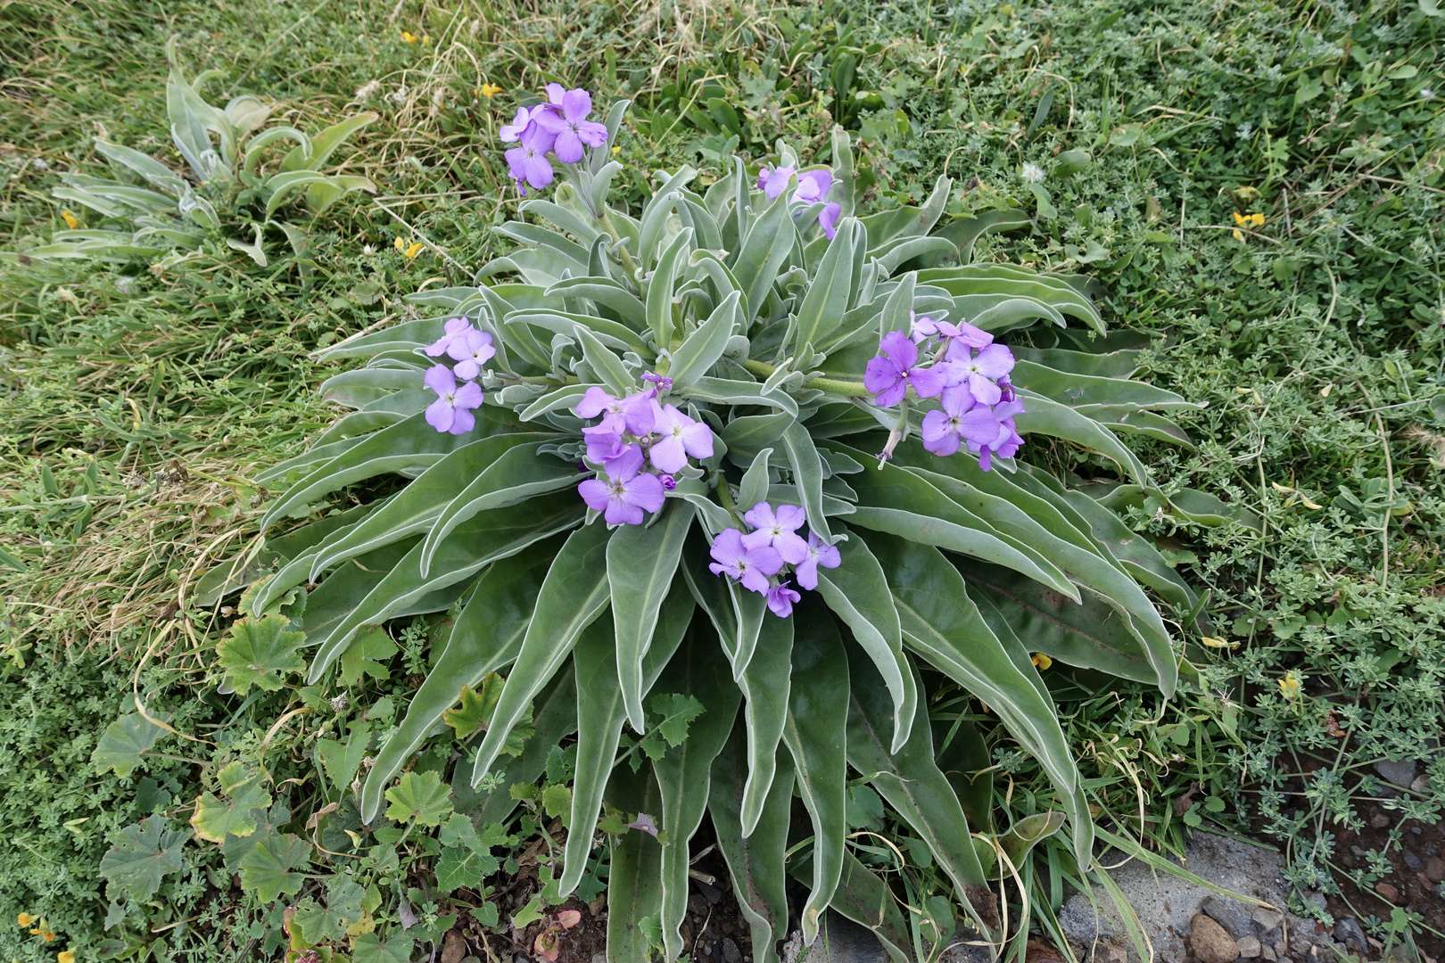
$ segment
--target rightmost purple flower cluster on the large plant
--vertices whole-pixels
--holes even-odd
[[[919,348],[931,345],[931,362],[923,364]],[[1017,453],[1023,439],[1013,419],[1023,413],[1023,403],[1009,381],[1014,358],[987,331],[915,315],[912,331],[889,332],[879,352],[863,375],[879,406],[897,404],[910,387],[919,398],[939,400],[941,409],[923,416],[923,448],[948,456],[967,445],[984,471],[994,455]]]

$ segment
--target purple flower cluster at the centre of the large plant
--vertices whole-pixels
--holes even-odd
[[[662,375],[647,380],[665,390],[672,387],[670,378]],[[601,422],[582,429],[587,461],[601,471],[578,485],[578,492],[610,526],[640,526],[678,487],[673,474],[688,465],[689,455],[712,456],[712,429],[673,404],[660,404],[657,388],[614,398],[594,385],[572,410],[584,419],[601,416]],[[646,471],[647,462],[655,471]]]

